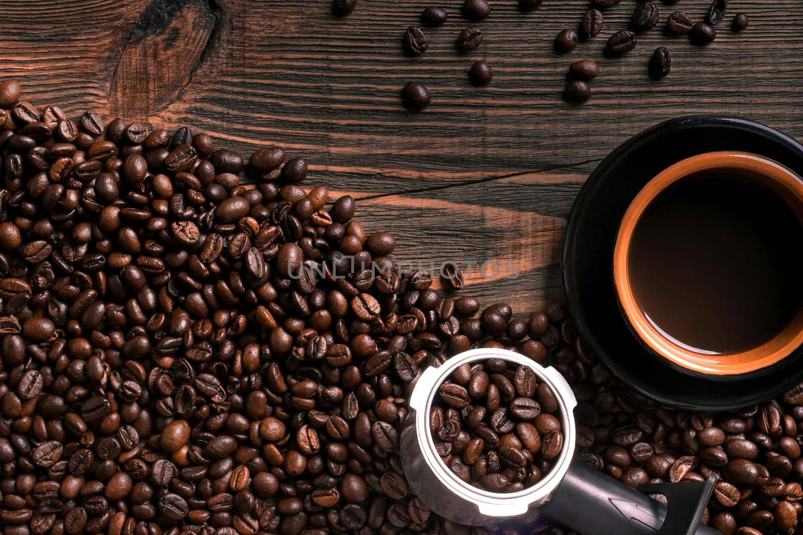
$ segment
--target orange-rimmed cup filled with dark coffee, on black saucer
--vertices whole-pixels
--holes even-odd
[[[618,301],[652,352],[707,375],[780,362],[803,343],[803,180],[745,152],[666,168],[627,209]]]

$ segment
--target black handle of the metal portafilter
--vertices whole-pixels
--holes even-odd
[[[538,512],[583,535],[720,535],[699,523],[715,483],[642,484],[636,490],[574,460]],[[645,492],[666,496],[668,505]]]

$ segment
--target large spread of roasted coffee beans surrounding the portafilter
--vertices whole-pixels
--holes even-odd
[[[444,521],[402,474],[411,384],[471,347],[569,379],[586,464],[630,485],[714,473],[707,523],[798,529],[803,385],[736,414],[659,407],[610,379],[560,304],[479,314],[399,275],[393,237],[302,188],[308,165],[280,148],[246,161],[186,127],[73,121],[6,81],[0,150],[5,535],[532,533]],[[533,422],[544,472],[556,429]]]

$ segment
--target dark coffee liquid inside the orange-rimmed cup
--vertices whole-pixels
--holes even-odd
[[[777,193],[707,175],[661,193],[634,229],[634,297],[692,351],[747,351],[781,332],[803,301],[803,227]]]

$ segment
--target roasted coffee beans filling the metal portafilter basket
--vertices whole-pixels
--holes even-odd
[[[528,366],[500,359],[463,364],[438,388],[430,430],[443,462],[491,492],[538,483],[563,450],[552,389]]]

